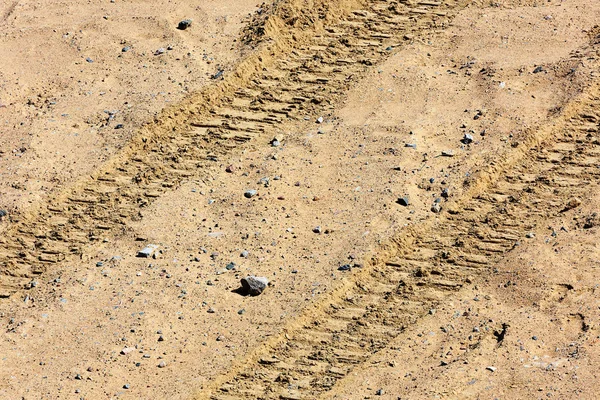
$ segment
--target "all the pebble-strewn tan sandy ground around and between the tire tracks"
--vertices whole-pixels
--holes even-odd
[[[98,168],[165,104],[210,84],[239,56],[234,39],[256,10],[16,4],[0,9],[0,208],[10,212]],[[183,18],[194,25],[176,30]],[[160,196],[128,234],[2,299],[0,397],[196,395],[343,284],[340,265],[435,220],[442,189],[461,196],[466,179],[597,79],[593,57],[577,52],[599,20],[588,0],[473,4],[365,68],[333,111],[283,125],[281,146],[250,141]],[[408,207],[396,203],[404,196]],[[584,211],[598,200],[590,192]],[[597,229],[580,233],[566,216],[547,225],[567,229],[549,242],[540,228],[324,397],[594,398]],[[156,259],[136,258],[147,243],[160,245]],[[240,296],[247,274],[271,286]],[[463,354],[475,328],[487,334]]]

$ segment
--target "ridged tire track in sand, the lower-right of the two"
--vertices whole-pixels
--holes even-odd
[[[196,398],[319,398],[408,326],[492,273],[495,262],[536,227],[576,213],[599,186],[596,81],[557,120],[481,173],[441,219],[403,232]]]

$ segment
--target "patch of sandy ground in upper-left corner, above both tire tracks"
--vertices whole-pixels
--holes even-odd
[[[252,1],[0,5],[0,196],[10,211],[94,171],[237,59]],[[183,19],[192,28],[178,30]],[[157,53],[160,49],[164,53]]]

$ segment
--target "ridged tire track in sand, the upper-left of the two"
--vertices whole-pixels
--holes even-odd
[[[127,233],[156,198],[201,179],[240,144],[326,114],[366,67],[414,33],[442,27],[469,0],[313,3],[277,2],[250,26],[266,32],[258,50],[224,80],[166,110],[94,176],[13,217],[0,237],[0,297]]]

